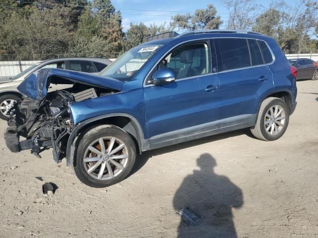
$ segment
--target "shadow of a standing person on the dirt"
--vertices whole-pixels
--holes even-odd
[[[197,164],[200,170],[183,179],[174,195],[173,207],[176,211],[188,208],[203,221],[198,226],[187,226],[180,218],[178,237],[236,238],[232,209],[243,204],[241,189],[229,178],[214,173],[217,164],[210,154],[200,155]]]

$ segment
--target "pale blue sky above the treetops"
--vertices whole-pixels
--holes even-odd
[[[287,2],[296,4],[299,1],[288,0]],[[264,7],[267,7],[270,2],[271,0],[255,0],[256,4]],[[193,13],[196,9],[206,8],[210,3],[216,7],[221,19],[226,21],[229,13],[222,0],[112,0],[116,10],[121,11],[124,31],[129,28],[131,22],[143,22],[147,26],[154,22],[157,25],[164,22],[169,23],[173,15]],[[221,28],[225,27],[221,26]]]

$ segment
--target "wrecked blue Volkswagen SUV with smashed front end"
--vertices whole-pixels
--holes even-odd
[[[153,37],[99,75],[32,73],[18,86],[25,97],[8,120],[7,147],[38,157],[53,148],[54,160],[66,158],[83,183],[105,187],[125,179],[143,151],[241,128],[265,141],[284,134],[297,69],[274,39],[222,30],[175,35]]]

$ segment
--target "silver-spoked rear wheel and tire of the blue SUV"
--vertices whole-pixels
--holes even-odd
[[[271,141],[280,138],[286,131],[290,110],[279,98],[266,98],[259,109],[256,124],[250,129],[260,140]]]

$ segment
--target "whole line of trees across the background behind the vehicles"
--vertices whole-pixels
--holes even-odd
[[[224,27],[254,30],[276,39],[285,53],[318,53],[318,2],[274,1],[267,9],[253,0],[224,0]],[[297,2],[296,2],[297,3]],[[121,12],[111,0],[2,0],[0,60],[44,60],[65,56],[117,58],[149,36],[177,30],[219,29],[212,4],[171,23],[131,23],[122,30]]]

